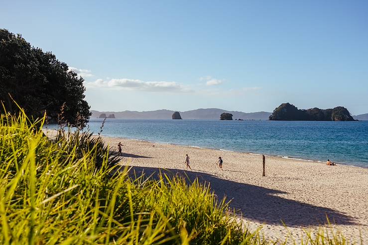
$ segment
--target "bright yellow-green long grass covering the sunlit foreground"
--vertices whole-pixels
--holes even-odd
[[[208,186],[131,179],[101,138],[60,130],[51,141],[43,123],[1,115],[0,244],[272,244]],[[347,244],[319,234],[303,244]]]

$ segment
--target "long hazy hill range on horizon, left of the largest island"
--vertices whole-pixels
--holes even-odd
[[[115,114],[115,118],[126,118],[126,119],[171,119],[172,114],[175,111],[171,110],[155,110],[155,111],[95,111],[91,110],[91,118],[98,118],[102,113]],[[267,120],[272,114],[271,112],[251,112],[245,113],[241,111],[227,111],[218,108],[209,109],[197,109],[190,111],[179,111],[183,119],[220,119],[222,113],[233,114],[234,119],[244,119],[244,120]]]

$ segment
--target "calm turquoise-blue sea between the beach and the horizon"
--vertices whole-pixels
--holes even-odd
[[[107,119],[102,135],[368,167],[368,121]]]

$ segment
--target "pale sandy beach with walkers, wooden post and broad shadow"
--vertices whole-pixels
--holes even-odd
[[[250,231],[262,226],[267,239],[292,235],[300,241],[303,230],[315,232],[331,223],[358,244],[368,243],[368,168],[266,156],[198,147],[159,144],[124,138],[103,137],[118,153],[119,164],[132,166],[136,174],[155,175],[160,169],[209,183],[214,193],[226,196],[230,206]],[[186,170],[185,155],[192,170]],[[217,160],[222,157],[223,170]],[[165,171],[165,170],[162,170]]]

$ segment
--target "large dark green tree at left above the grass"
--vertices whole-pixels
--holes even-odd
[[[34,48],[21,35],[0,29],[0,100],[7,111],[18,111],[12,97],[31,117],[41,117],[46,111],[56,122],[65,103],[64,121],[72,126],[85,125],[91,113],[84,100],[83,82],[51,52]]]

